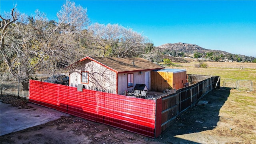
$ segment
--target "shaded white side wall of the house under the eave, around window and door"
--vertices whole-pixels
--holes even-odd
[[[145,72],[142,71],[142,74],[139,72],[128,72],[118,74],[118,92],[124,92],[125,90],[134,90],[136,84],[145,84]],[[128,85],[128,74],[133,73],[133,87],[127,87]],[[149,73],[149,86],[151,85],[151,72]],[[150,88],[148,88],[150,89]]]

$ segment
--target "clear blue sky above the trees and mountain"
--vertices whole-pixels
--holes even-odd
[[[206,49],[256,57],[256,0],[114,1],[72,0],[87,8],[91,24],[119,24],[148,37],[154,46],[197,44]],[[64,0],[0,0],[0,14],[17,4],[21,13],[36,9],[56,18]]]

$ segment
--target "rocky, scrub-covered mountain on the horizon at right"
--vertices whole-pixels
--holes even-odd
[[[222,50],[208,50],[196,44],[186,44],[182,42],[174,44],[163,44],[157,47],[164,55],[174,57],[193,57],[193,58],[207,58],[207,60],[214,61],[238,61],[238,62],[252,62],[255,58],[252,56],[244,56],[240,54],[231,54]]]

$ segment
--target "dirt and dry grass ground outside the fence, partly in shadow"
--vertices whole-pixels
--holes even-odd
[[[251,98],[250,113],[240,111],[243,108],[237,106],[240,101],[233,93]],[[13,106],[20,103],[24,110],[30,108],[10,96],[1,99]],[[1,136],[1,144],[256,144],[255,93],[220,88],[202,100],[208,103],[183,113],[156,139],[68,116]]]

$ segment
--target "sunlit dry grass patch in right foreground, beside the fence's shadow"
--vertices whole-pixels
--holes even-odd
[[[230,90],[220,108],[220,120],[213,130],[204,131],[222,137],[238,139],[242,144],[256,144],[256,93]]]

